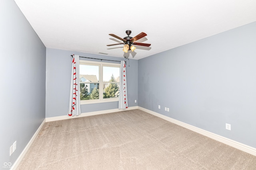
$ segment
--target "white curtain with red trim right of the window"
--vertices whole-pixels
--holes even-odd
[[[118,109],[126,109],[127,103],[127,88],[126,88],[126,66],[125,61],[121,61],[120,67],[120,89],[119,89],[119,104]]]

